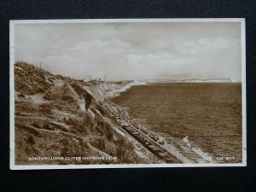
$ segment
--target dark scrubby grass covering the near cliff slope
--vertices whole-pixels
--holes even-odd
[[[21,68],[21,69],[20,69]],[[46,82],[44,70],[31,66],[24,62],[15,64],[15,90],[19,92],[20,99],[15,101],[15,157],[18,164],[109,164],[109,163],[135,163],[139,162],[137,154],[134,153],[132,144],[113,130],[101,115],[79,110],[78,102],[70,90],[67,81],[73,90],[82,97],[84,88],[76,80],[70,80],[58,75],[53,79],[62,79],[65,84],[55,87]],[[43,98],[48,102],[36,105],[27,99],[29,95],[37,93],[44,94]],[[28,96],[27,96],[28,95]],[[92,101],[94,107],[106,118],[102,108]],[[52,109],[57,108],[61,112],[72,113],[72,117],[60,119]],[[55,123],[59,122],[59,123]],[[65,124],[65,125],[62,125]],[[91,137],[90,137],[91,136]],[[90,137],[84,141],[83,137]],[[99,156],[99,152],[90,148],[90,143],[95,148],[102,150],[117,161],[109,160],[70,160],[70,161],[33,161],[27,160],[28,156]]]

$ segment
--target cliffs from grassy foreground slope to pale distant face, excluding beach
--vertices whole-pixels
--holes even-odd
[[[109,110],[119,107],[108,98],[129,86],[82,84],[25,62],[15,63],[15,164],[152,162],[153,155],[119,129],[121,125],[109,115]],[[91,96],[88,110],[84,94]]]

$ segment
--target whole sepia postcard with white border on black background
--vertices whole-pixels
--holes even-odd
[[[11,169],[247,166],[244,19],[9,26]]]

